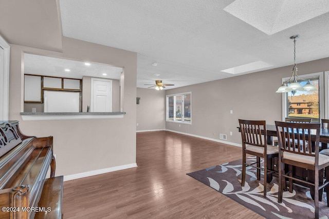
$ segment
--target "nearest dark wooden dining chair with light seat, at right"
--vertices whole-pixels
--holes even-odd
[[[315,217],[319,218],[319,191],[326,187],[329,191],[329,181],[323,182],[323,169],[329,171],[329,156],[319,154],[320,124],[319,123],[285,123],[276,121],[279,140],[279,194],[278,203],[282,203],[283,189],[286,178],[289,180],[289,192],[293,192],[293,180],[309,185],[314,191]],[[315,135],[315,147],[307,147],[312,142],[311,135]],[[297,140],[297,141],[295,141]],[[297,147],[295,146],[297,142]],[[285,170],[285,166],[288,170]],[[295,167],[310,170],[314,175],[313,182],[294,174]],[[322,192],[320,192],[322,196]],[[327,206],[329,207],[329,192],[327,192]]]

